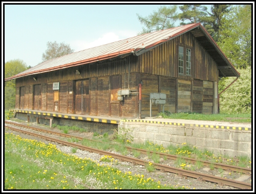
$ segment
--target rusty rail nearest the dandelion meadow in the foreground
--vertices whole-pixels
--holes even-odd
[[[148,161],[144,161],[142,159],[136,159],[136,158],[132,158],[129,156],[122,156],[120,154],[116,154],[116,153],[111,153],[108,151],[101,151],[98,150],[96,148],[89,148],[87,146],[83,146],[83,145],[78,145],[75,143],[71,143],[71,142],[66,142],[60,139],[55,139],[55,138],[51,138],[51,137],[47,137],[44,135],[40,135],[40,134],[36,134],[36,133],[32,133],[29,131],[24,131],[24,130],[20,130],[14,127],[9,127],[9,126],[5,126],[11,130],[15,130],[21,133],[26,133],[32,136],[36,136],[36,137],[40,137],[42,139],[47,139],[49,141],[53,141],[53,142],[57,142],[61,145],[67,145],[67,146],[72,146],[72,147],[76,147],[79,148],[81,150],[86,150],[86,151],[90,151],[90,152],[94,152],[94,153],[99,153],[101,155],[108,155],[108,156],[112,156],[113,158],[116,159],[120,159],[121,161],[126,161],[126,162],[131,162],[133,164],[138,164],[138,165],[146,165],[148,163]],[[167,165],[161,165],[161,164],[157,164],[154,162],[151,162],[153,165],[155,165],[155,168],[161,171],[166,171],[166,172],[171,172],[171,173],[175,173],[178,174],[179,176],[183,177],[192,177],[192,178],[196,178],[199,181],[209,181],[209,182],[215,182],[218,183],[220,185],[228,185],[228,186],[232,186],[234,188],[241,188],[241,189],[251,189],[251,184],[250,183],[246,183],[246,182],[241,182],[241,181],[236,181],[236,180],[230,180],[230,179],[224,179],[222,177],[215,177],[212,175],[208,175],[208,174],[201,174],[198,172],[194,172],[194,171],[188,171],[188,170],[184,170],[184,169],[180,169],[180,168],[175,168],[175,167],[170,167]]]

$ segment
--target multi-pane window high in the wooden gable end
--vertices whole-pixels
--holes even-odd
[[[184,53],[184,51],[186,51]],[[186,59],[184,58],[184,55],[186,55]],[[186,60],[186,63],[184,63],[184,60]],[[185,74],[191,75],[191,49],[187,49],[183,46],[179,46],[179,56],[178,56],[178,71],[179,74]]]

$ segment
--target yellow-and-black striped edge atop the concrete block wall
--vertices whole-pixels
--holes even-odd
[[[144,123],[155,123],[155,124],[165,124],[165,125],[189,125],[191,127],[209,127],[216,129],[234,129],[234,130],[251,130],[249,127],[230,127],[230,126],[219,126],[219,125],[198,125],[198,124],[184,124],[184,123],[172,123],[172,122],[160,122],[160,121],[146,121],[141,119],[121,119],[122,122],[144,122]]]

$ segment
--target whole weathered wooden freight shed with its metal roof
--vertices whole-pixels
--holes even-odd
[[[150,116],[150,93],[165,93],[171,113],[218,113],[223,76],[240,74],[194,23],[74,52],[5,81],[16,79],[15,109],[135,119]]]

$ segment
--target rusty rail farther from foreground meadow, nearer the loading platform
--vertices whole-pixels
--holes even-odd
[[[42,132],[45,132],[45,133],[56,134],[56,135],[64,136],[64,137],[68,137],[68,138],[75,137],[79,140],[86,139],[86,138],[82,138],[82,137],[79,137],[79,136],[71,136],[71,135],[68,135],[68,134],[65,134],[65,133],[53,132],[53,131],[50,131],[50,130],[40,129],[40,128],[37,128],[37,127],[31,127],[31,126],[27,126],[27,125],[12,123],[12,122],[6,122],[5,121],[5,123],[11,124],[11,125],[17,125],[17,126],[20,126],[20,127],[31,128],[33,130],[39,130],[39,131],[42,131]],[[94,142],[101,142],[101,141],[93,140],[93,139],[87,139],[87,140],[94,141]],[[112,143],[108,143],[108,144],[114,145]],[[133,151],[133,150],[140,151],[140,153],[143,153],[143,154],[147,154],[148,152],[150,152],[151,154],[155,153],[153,151],[146,151],[146,150],[143,150],[143,149],[140,149],[140,148],[131,148],[129,146],[125,146],[125,148],[127,148],[129,151]],[[177,159],[177,156],[172,155],[172,154],[161,153],[161,152],[156,152],[156,153],[159,154],[160,157],[165,156],[167,159],[172,159],[172,160]],[[244,167],[239,167],[239,166],[220,164],[220,163],[216,163],[216,162],[209,162],[209,161],[200,160],[200,159],[188,158],[188,157],[185,157],[185,156],[179,156],[179,157],[182,158],[182,159],[185,159],[186,162],[191,162],[193,164],[196,164],[196,162],[202,162],[202,164],[204,166],[212,165],[214,168],[221,168],[221,169],[224,169],[226,171],[234,171],[234,172],[244,173],[244,174],[248,174],[248,175],[251,174],[251,168],[244,168]]]

